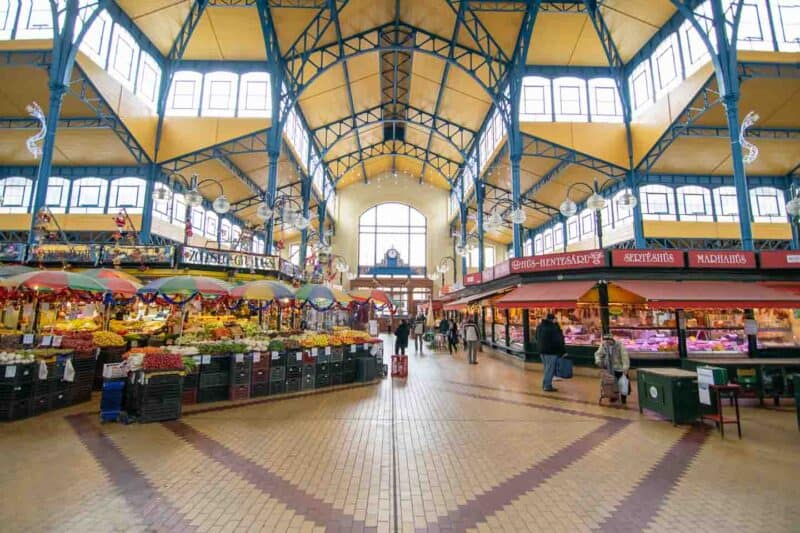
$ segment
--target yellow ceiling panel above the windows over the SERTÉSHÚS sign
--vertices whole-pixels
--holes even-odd
[[[653,171],[665,174],[717,174],[716,169],[728,157],[730,141],[727,139],[679,137],[656,161]]]

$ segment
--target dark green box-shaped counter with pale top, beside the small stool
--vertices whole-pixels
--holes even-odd
[[[643,368],[639,369],[636,383],[640,413],[650,409],[669,418],[673,425],[693,422],[700,415],[694,372],[679,368]]]

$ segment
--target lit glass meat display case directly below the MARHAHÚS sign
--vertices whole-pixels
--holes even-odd
[[[686,311],[686,351],[689,357],[745,357],[747,336],[740,310]]]

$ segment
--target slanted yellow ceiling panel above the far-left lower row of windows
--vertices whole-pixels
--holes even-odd
[[[67,165],[134,165],[136,160],[114,132],[105,128],[56,132],[56,146]]]

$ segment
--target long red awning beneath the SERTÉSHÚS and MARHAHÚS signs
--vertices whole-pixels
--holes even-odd
[[[742,281],[614,281],[654,308],[800,307],[800,294]]]

